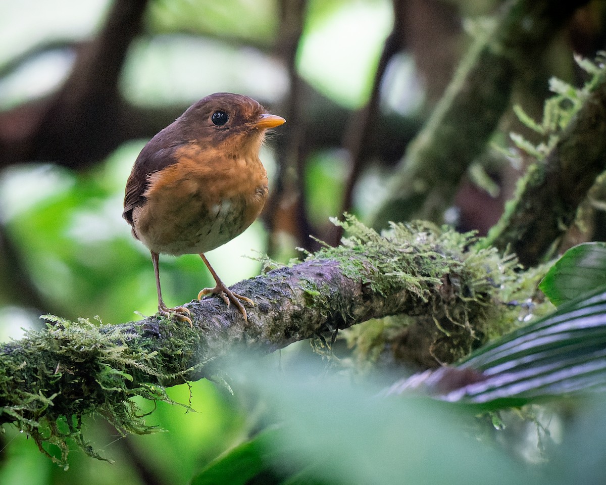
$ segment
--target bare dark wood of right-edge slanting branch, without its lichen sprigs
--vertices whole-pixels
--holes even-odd
[[[510,249],[533,266],[574,222],[579,204],[606,169],[606,80],[588,96],[547,157],[531,166],[524,189],[485,244]]]

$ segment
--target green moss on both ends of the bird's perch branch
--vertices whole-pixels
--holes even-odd
[[[348,215],[338,224],[347,231],[342,246],[324,245],[307,260],[319,270],[324,264],[338,264],[342,276],[370,287],[373,291],[368,295],[356,296],[362,298],[356,302],[358,309],[368,296],[373,304],[397,300],[406,306],[404,310],[395,305],[384,315],[408,315],[370,321],[350,330],[348,343],[359,362],[375,363],[386,351],[398,360],[406,353],[402,348],[411,327],[428,330],[431,337],[427,349],[417,350],[419,363],[454,361],[534,311],[528,295],[541,274],[518,273],[514,258],[478,247],[473,233],[415,222],[392,224],[379,234]],[[287,279],[286,274],[282,277]],[[360,319],[351,315],[351,295],[338,293],[328,281],[315,278],[288,284],[298,284],[291,289],[304,292],[306,309],[330,313],[335,328],[342,328],[341,320],[351,324]],[[379,295],[394,299],[381,301]],[[274,335],[276,347],[290,338],[289,332],[313,335],[317,331],[304,315],[309,313],[290,315],[288,329],[268,332]],[[51,322],[46,329],[2,348],[0,396],[10,396],[10,403],[8,397],[0,400],[0,412],[5,422],[14,421],[30,434],[43,452],[50,455],[49,446],[58,447],[55,460],[62,464],[67,463],[70,442],[98,457],[82,435],[83,416],[102,415],[121,433],[153,432],[155,428],[145,424],[132,398],[171,402],[162,386],[180,383],[185,375],[202,376],[203,360],[216,355],[200,351],[208,344],[203,341],[204,332],[171,319],[114,327],[87,319],[72,323],[45,318]],[[241,331],[234,327],[233,332]],[[160,333],[169,337],[160,338]],[[318,335],[312,344],[322,355],[330,354],[324,336]],[[221,381],[217,375],[215,380]]]

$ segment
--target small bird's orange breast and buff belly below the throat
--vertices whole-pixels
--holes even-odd
[[[150,176],[147,201],[133,210],[133,227],[153,252],[204,253],[244,232],[261,213],[267,193],[267,173],[258,158],[203,165],[181,158]]]

